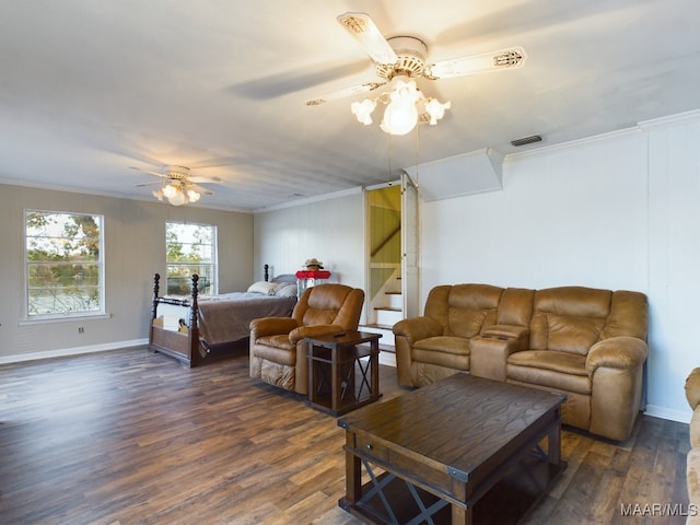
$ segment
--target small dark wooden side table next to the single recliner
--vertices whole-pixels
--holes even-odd
[[[308,405],[332,416],[376,401],[381,334],[307,337]]]

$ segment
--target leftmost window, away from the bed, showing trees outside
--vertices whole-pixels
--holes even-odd
[[[26,318],[105,312],[102,215],[25,211]]]

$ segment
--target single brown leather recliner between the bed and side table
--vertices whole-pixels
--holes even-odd
[[[364,292],[345,284],[306,289],[291,317],[250,323],[250,377],[299,394],[308,392],[306,337],[358,329]]]

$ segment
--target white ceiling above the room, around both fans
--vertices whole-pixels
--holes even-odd
[[[423,39],[429,62],[509,46],[528,58],[419,81],[452,109],[389,140],[351,98],[304,105],[376,79],[336,21],[346,11]],[[210,166],[194,173],[222,180],[198,206],[258,210],[625,129],[700,108],[699,23],[697,0],[4,1],[0,182],[152,199],[136,185],[155,177],[130,166]]]

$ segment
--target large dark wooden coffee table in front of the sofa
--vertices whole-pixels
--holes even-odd
[[[346,429],[339,504],[380,524],[516,523],[565,467],[564,399],[455,374],[361,408],[338,420]]]

